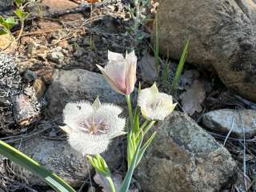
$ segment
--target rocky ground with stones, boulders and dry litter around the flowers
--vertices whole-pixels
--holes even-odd
[[[14,6],[7,2],[0,0],[2,16],[13,14]],[[179,105],[177,112],[154,127],[157,137],[138,166],[130,191],[256,191],[256,98],[255,89],[246,88],[255,85],[254,62],[250,61],[254,50],[246,46],[247,56],[242,51],[242,45],[253,43],[254,22],[250,18],[253,21],[254,11],[250,9],[254,9],[255,3],[248,6],[249,0],[245,1],[247,4],[239,0],[240,3],[226,1],[223,5],[222,1],[219,5],[210,1],[188,2],[190,8],[175,0],[162,1],[158,7],[160,74],[154,66],[150,41],[157,2],[142,9],[142,14],[151,20],[143,22],[136,31],[129,12],[133,3],[129,0],[30,3],[26,7],[30,17],[20,41],[5,50],[9,40],[0,36],[1,139],[53,170],[78,191],[101,191],[98,175],[81,154],[70,148],[59,129],[62,109],[70,101],[92,102],[98,94],[102,102],[125,107],[124,98],[110,89],[96,64],[106,64],[107,50],[125,53],[135,47],[138,82],[143,87],[158,82],[160,89],[173,94]],[[210,7],[210,11],[206,13],[202,7]],[[234,8],[233,18],[229,17],[230,7]],[[171,11],[166,14],[166,9]],[[195,14],[196,9],[202,13]],[[182,18],[184,11],[195,17]],[[214,22],[207,18],[214,18],[210,19]],[[209,29],[221,29],[221,19],[224,30],[212,34]],[[245,32],[240,27],[241,33],[235,36],[240,38],[235,47],[239,44],[241,50],[234,48],[232,35],[227,35],[229,31],[234,34],[238,22],[247,29]],[[19,26],[15,26],[12,33],[17,35],[18,30]],[[174,91],[171,83],[188,35],[188,62],[178,90]],[[237,52],[241,52],[240,58],[234,57]],[[230,67],[234,63],[242,65],[238,73]],[[245,81],[249,71],[251,77]],[[235,81],[229,84],[230,79]],[[117,185],[126,171],[125,154],[125,138],[115,139],[104,154]],[[0,165],[0,191],[52,191],[6,158],[2,157]]]

